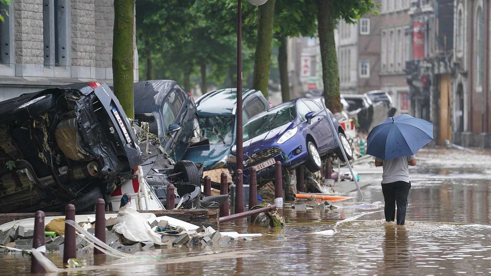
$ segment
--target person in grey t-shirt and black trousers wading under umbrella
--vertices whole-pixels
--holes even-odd
[[[409,155],[387,161],[376,157],[375,166],[383,166],[382,193],[385,201],[385,221],[394,221],[397,203],[397,225],[404,225],[409,189],[411,189],[409,166],[416,166],[416,157]]]

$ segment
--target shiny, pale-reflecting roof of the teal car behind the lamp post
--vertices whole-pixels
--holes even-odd
[[[242,99],[259,91],[249,88],[242,89]],[[210,91],[196,100],[198,114],[232,114],[237,105],[237,89],[225,88]]]

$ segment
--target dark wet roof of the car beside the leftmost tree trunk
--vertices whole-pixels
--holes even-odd
[[[134,83],[135,113],[159,110],[164,98],[176,86],[179,87],[177,82],[172,80],[152,80]]]

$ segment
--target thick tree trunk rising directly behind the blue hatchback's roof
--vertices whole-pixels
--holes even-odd
[[[334,23],[332,7],[335,0],[317,0],[317,22],[322,59],[322,81],[326,106],[332,112],[341,111],[339,98],[339,71],[336,45],[334,43]]]

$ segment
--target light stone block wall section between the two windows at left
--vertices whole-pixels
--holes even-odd
[[[43,64],[43,1],[16,0],[14,26],[15,62]]]

